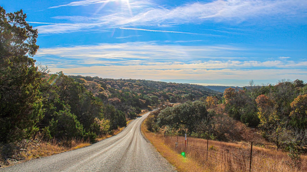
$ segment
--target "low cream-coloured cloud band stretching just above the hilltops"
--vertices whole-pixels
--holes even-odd
[[[307,71],[300,69],[146,69],[136,66],[90,66],[75,68],[52,68],[52,71],[63,71],[65,74],[84,74],[105,78],[134,78],[148,80],[272,80],[300,78],[307,80]],[[120,75],[119,75],[120,73]],[[268,75],[270,73],[270,75]]]

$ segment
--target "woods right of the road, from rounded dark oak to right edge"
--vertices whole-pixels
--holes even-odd
[[[213,140],[241,141],[242,131],[236,123],[242,122],[256,127],[258,134],[276,148],[306,151],[307,84],[298,79],[279,80],[276,85],[255,86],[252,80],[250,83],[252,87],[248,89],[225,89],[219,105],[215,105],[217,100],[208,96],[195,102],[162,107],[149,115],[147,129],[188,133]]]

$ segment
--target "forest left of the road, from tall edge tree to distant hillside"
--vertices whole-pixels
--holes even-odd
[[[21,140],[95,141],[142,109],[222,94],[191,84],[51,74],[33,56],[38,32],[0,7],[0,147]],[[14,146],[13,146],[14,147]]]

